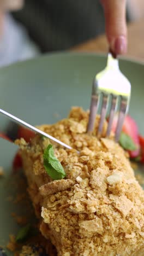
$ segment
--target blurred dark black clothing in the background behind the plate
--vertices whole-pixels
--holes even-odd
[[[13,15],[44,52],[69,49],[104,33],[99,0],[25,0]]]

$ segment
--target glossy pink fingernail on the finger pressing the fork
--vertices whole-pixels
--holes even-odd
[[[127,51],[127,40],[124,36],[117,37],[114,44],[116,54],[124,54]]]

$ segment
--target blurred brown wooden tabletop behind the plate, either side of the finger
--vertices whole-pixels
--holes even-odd
[[[107,53],[106,36],[102,35],[75,46],[74,51]],[[125,57],[144,61],[144,19],[128,25],[128,53]]]

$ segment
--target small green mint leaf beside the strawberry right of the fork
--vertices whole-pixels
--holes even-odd
[[[122,148],[124,148],[125,150],[136,150],[136,145],[133,142],[133,139],[131,139],[131,137],[124,132],[121,132],[119,144],[121,144]]]

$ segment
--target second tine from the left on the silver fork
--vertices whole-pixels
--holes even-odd
[[[100,122],[99,122],[99,128],[98,128],[98,135],[100,135],[100,133],[103,130],[107,105],[108,105],[108,101],[109,101],[109,98],[107,96],[103,95],[102,97],[103,98],[102,98],[102,106],[101,106],[101,112],[100,112]]]

